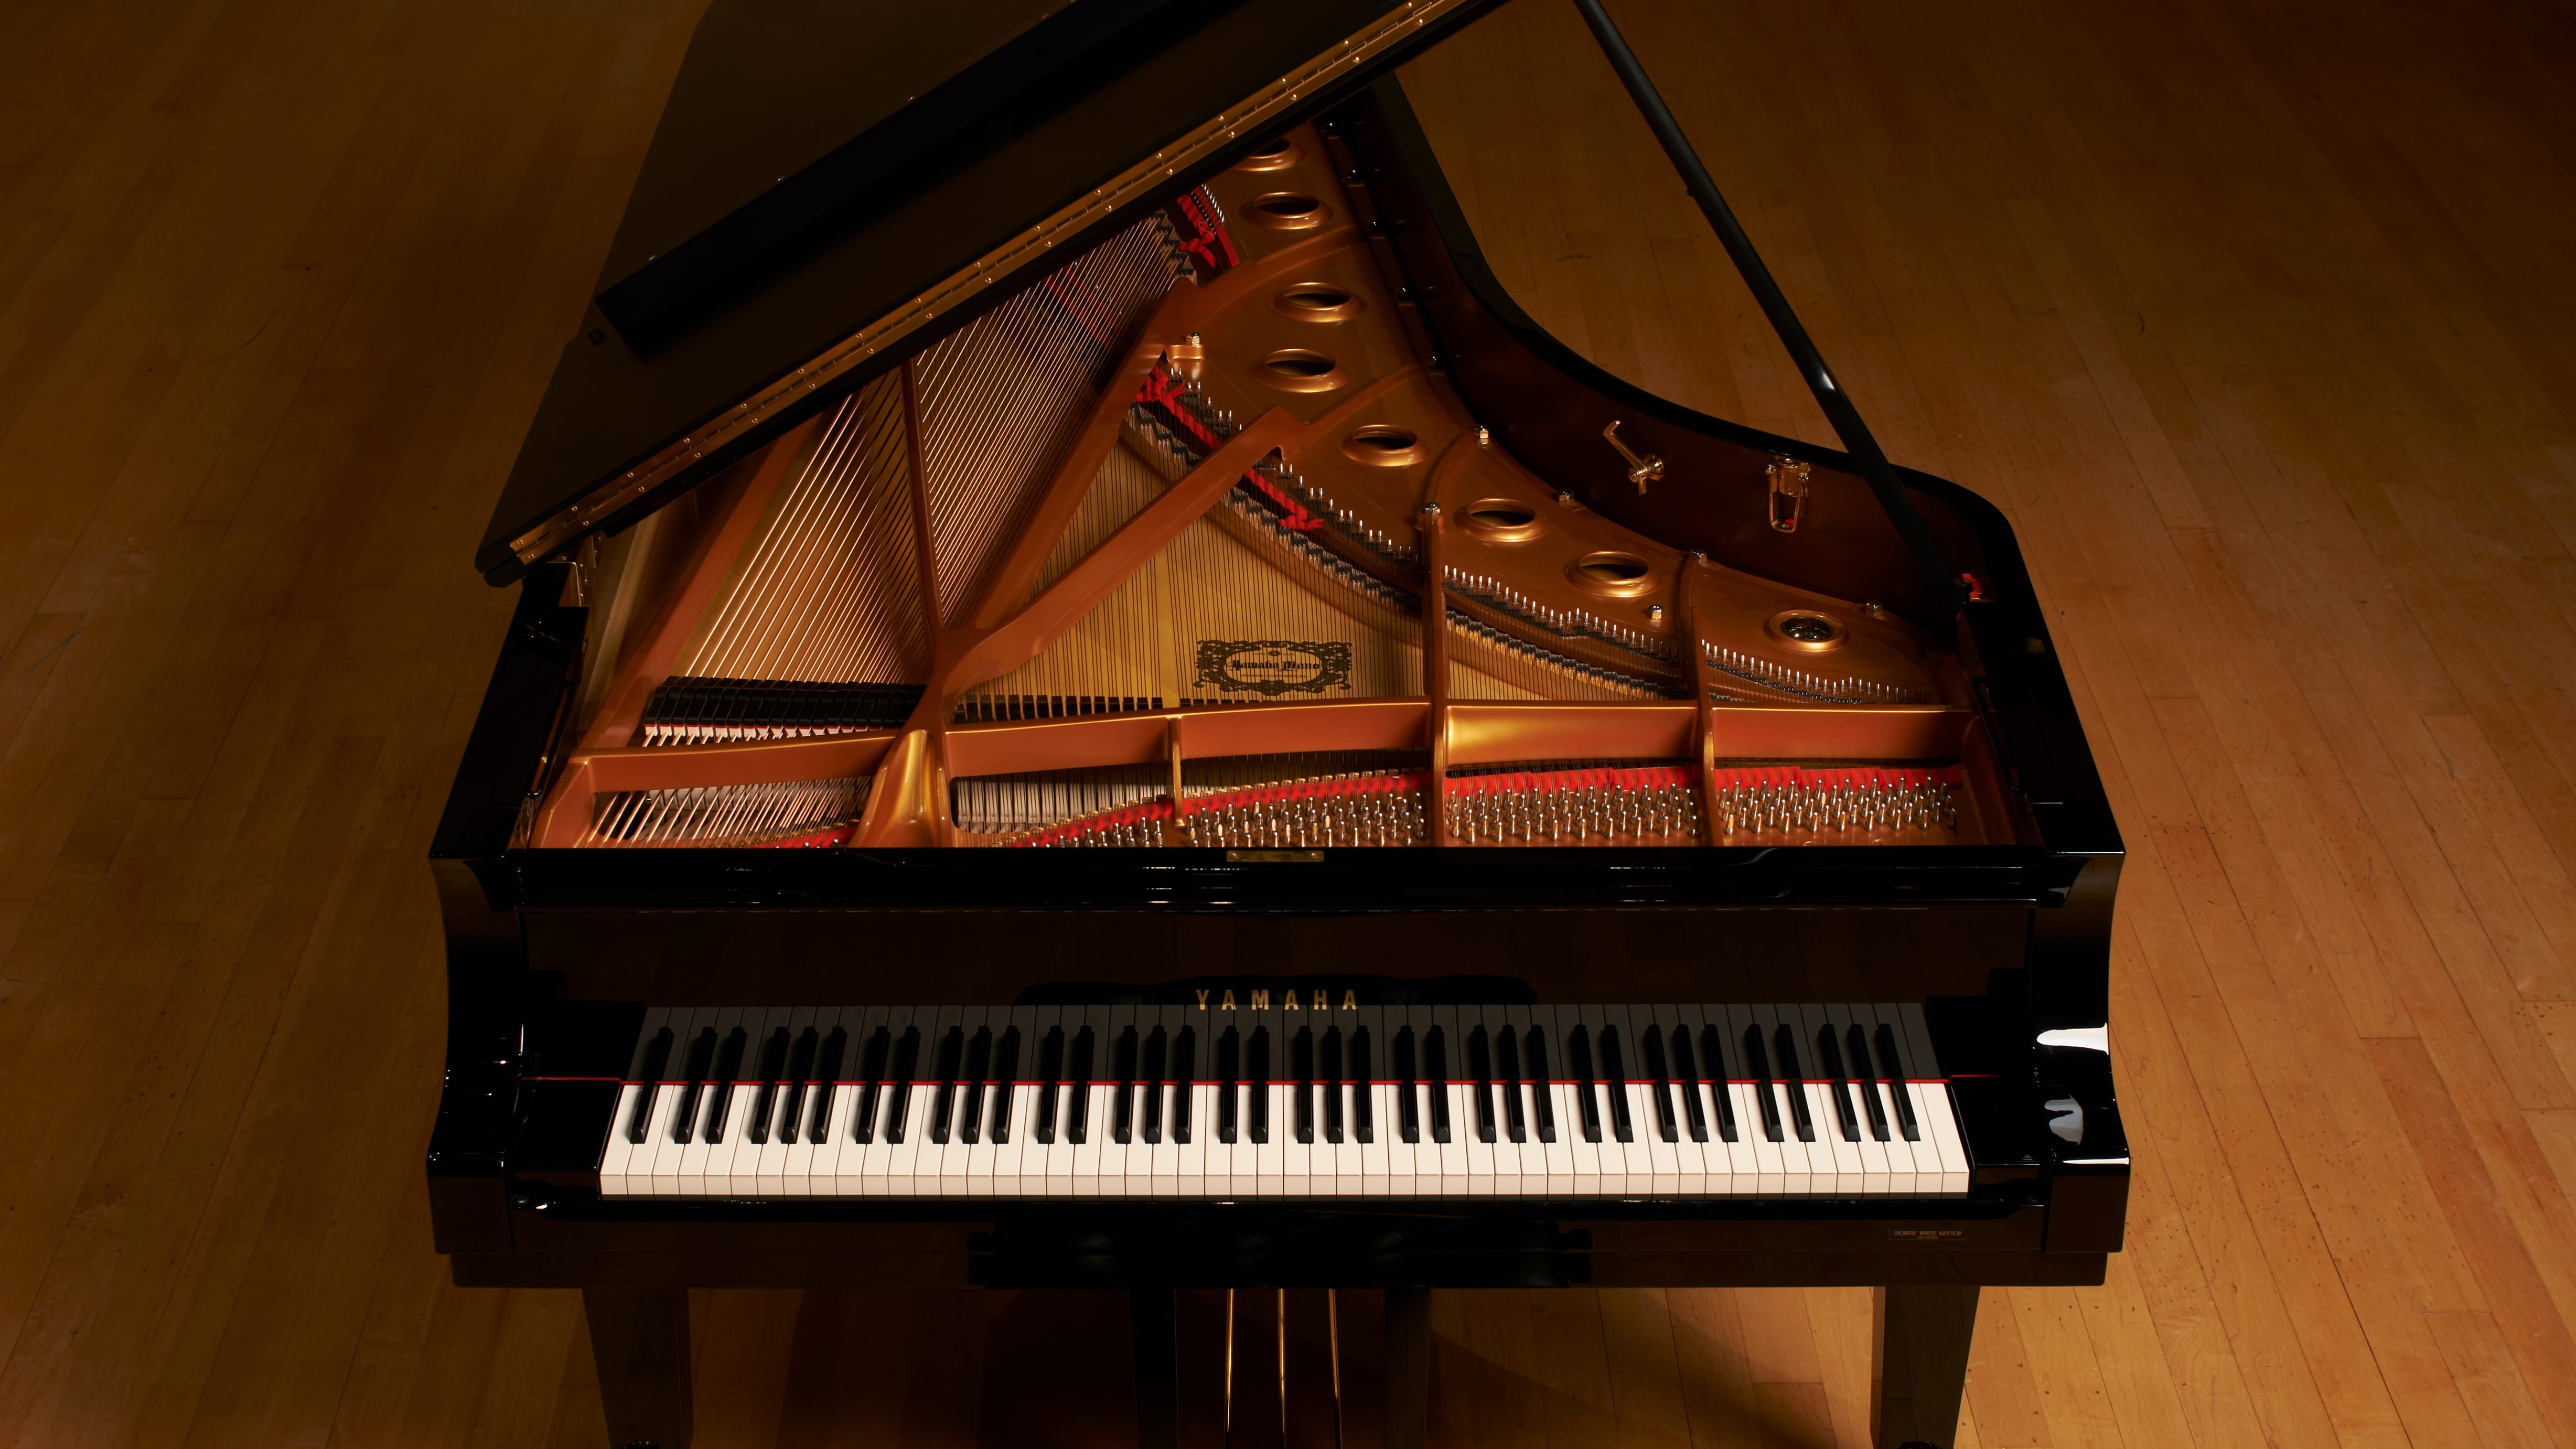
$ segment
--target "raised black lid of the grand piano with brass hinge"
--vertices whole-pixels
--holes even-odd
[[[1484,8],[716,0],[474,567],[711,477]]]

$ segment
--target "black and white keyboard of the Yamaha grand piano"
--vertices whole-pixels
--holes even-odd
[[[1922,1008],[652,1008],[605,1199],[1958,1196]]]

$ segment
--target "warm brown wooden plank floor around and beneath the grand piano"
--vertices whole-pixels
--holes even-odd
[[[1960,1441],[2576,1449],[2568,13],[1615,8],[1888,451],[2012,513],[2128,833],[2130,1248],[1986,1297]],[[0,1444],[600,1439],[577,1302],[428,1250],[422,851],[690,21],[10,13]],[[1569,5],[1414,83],[1543,322],[1824,438]],[[1043,1305],[701,1307],[701,1444],[1121,1431]],[[1435,1428],[1862,1444],[1865,1328],[1450,1294]]]

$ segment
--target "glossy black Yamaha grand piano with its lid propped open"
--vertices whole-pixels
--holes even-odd
[[[1543,3],[1543,0],[1520,0]],[[1651,397],[1476,250],[1394,67],[1473,0],[716,0],[477,567],[433,871],[459,1284],[2097,1284],[2120,838],[2004,516]],[[1280,1297],[1285,1302],[1285,1297]],[[1340,1312],[1340,1310],[1334,1310]],[[1231,1385],[1231,1377],[1229,1377]]]

